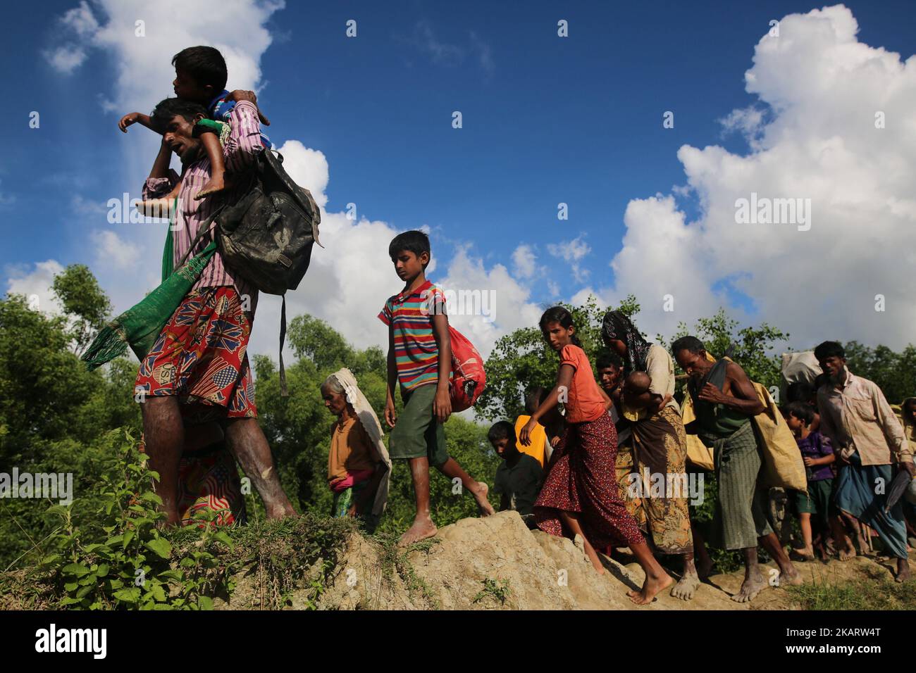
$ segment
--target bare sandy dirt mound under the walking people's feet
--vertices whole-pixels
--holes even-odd
[[[648,606],[629,601],[641,586],[636,563],[605,558],[599,575],[569,539],[529,531],[515,512],[467,518],[440,529],[419,548],[399,553],[354,535],[322,609],[404,610],[442,608],[508,610],[748,610],[791,609],[787,592],[767,589],[750,604],[730,599],[742,572],[714,575],[690,602],[667,590]],[[770,577],[769,568],[763,572]],[[806,581],[844,581],[878,567],[872,559],[796,564]],[[886,571],[889,566],[880,566]]]

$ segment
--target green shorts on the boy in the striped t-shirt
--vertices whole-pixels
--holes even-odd
[[[439,467],[449,460],[445,446],[445,429],[432,415],[432,400],[436,385],[420,385],[409,393],[401,391],[404,410],[398,416],[388,437],[388,455],[392,460],[429,458],[430,464]]]

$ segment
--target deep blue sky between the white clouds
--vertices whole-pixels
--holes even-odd
[[[89,231],[97,224],[92,218],[104,225],[99,204],[123,191],[135,195],[137,167],[153,158],[136,156],[136,135],[149,132],[135,128],[123,136],[116,129],[129,110],[103,109],[104,100],[117,100],[115,51],[86,49],[69,74],[43,57],[65,39],[60,16],[76,6],[5,6],[0,67],[13,99],[11,121],[0,127],[5,277],[51,259],[93,267]],[[88,6],[103,22],[104,8]],[[542,268],[557,270],[553,292],[540,272],[526,280],[526,299],[538,304],[557,289],[567,299],[586,286],[620,287],[609,264],[623,246],[627,205],[685,184],[679,148],[751,152],[746,135],[726,133],[718,120],[753,105],[772,118],[769,104],[745,91],[745,72],[770,19],[815,6],[289,3],[268,12],[263,24],[271,41],[257,57],[258,100],[275,144],[297,139],[326,157],[328,212],[354,202],[361,216],[395,230],[427,225],[442,263],[464,249],[485,268],[512,269],[518,245],[534,245]],[[858,22],[859,42],[909,58],[916,36],[911,3],[845,6]],[[174,14],[180,21],[184,12]],[[357,38],[344,37],[350,18]],[[561,18],[569,21],[569,38],[557,37]],[[172,53],[159,56],[168,64]],[[147,75],[134,74],[137,81]],[[229,88],[233,83],[230,71]],[[168,81],[149,88],[152,100],[171,93]],[[33,110],[41,115],[39,129],[28,127]],[[463,114],[461,129],[452,127],[455,110]],[[669,110],[675,125],[665,129]],[[675,196],[688,222],[703,217],[697,195]],[[565,222],[556,217],[561,201],[569,204]],[[576,260],[581,276],[561,271],[567,261],[547,248],[577,238],[590,248]],[[141,253],[139,265],[155,270],[159,250],[144,244]],[[365,264],[389,262],[379,250]],[[118,308],[127,308],[114,276],[104,284]],[[715,294],[729,283],[720,277],[710,286]],[[753,318],[759,298],[749,294],[732,288],[726,299]]]

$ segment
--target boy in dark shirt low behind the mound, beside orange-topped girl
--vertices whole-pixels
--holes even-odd
[[[544,471],[540,463],[518,450],[515,427],[507,420],[497,421],[486,437],[496,454],[503,459],[496,468],[494,486],[496,493],[500,494],[499,511],[514,509],[521,516],[532,514],[534,502],[544,482]]]

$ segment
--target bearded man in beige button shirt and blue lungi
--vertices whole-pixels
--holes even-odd
[[[828,376],[817,391],[817,404],[821,433],[833,442],[840,465],[836,505],[878,531],[887,552],[897,557],[897,581],[906,581],[910,564],[902,507],[898,503],[884,511],[894,474],[904,471],[916,476],[903,427],[878,385],[846,368],[842,345],[823,342],[814,356]],[[843,560],[855,556],[852,540],[844,537],[835,540]]]

